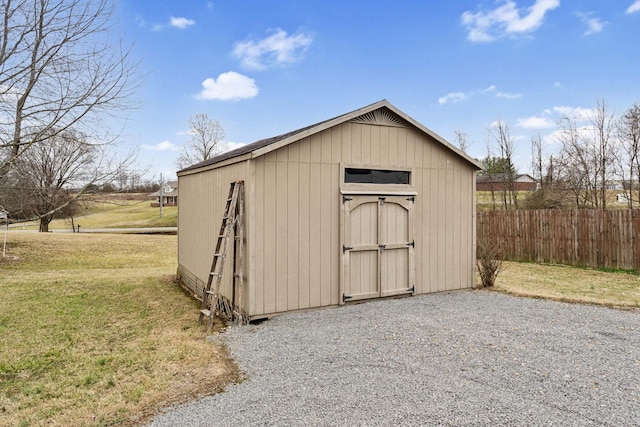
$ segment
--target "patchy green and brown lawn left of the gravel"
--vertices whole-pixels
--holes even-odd
[[[10,232],[0,425],[138,425],[238,379],[173,282],[176,236]]]

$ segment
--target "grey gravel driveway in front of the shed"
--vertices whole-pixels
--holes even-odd
[[[229,328],[247,379],[151,426],[638,426],[640,311],[460,291]]]

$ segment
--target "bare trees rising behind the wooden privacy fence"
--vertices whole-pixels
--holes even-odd
[[[546,153],[540,134],[532,137],[532,176],[538,189],[526,199],[517,191],[509,125],[498,119],[489,132],[491,142],[478,174],[500,184],[491,191],[494,208],[606,209],[610,190],[623,194],[628,208],[640,206],[640,104],[616,116],[598,100],[581,116],[563,116],[550,136],[560,147],[553,154]]]

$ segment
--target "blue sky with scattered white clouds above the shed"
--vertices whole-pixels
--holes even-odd
[[[640,0],[120,0],[142,58],[123,140],[149,176],[175,177],[188,118],[231,147],[387,99],[485,157],[497,119],[530,170],[531,135],[557,149],[562,115],[640,102]]]

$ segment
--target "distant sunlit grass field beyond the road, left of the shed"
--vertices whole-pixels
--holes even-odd
[[[151,207],[149,200],[96,201],[86,204],[74,218],[80,230],[89,228],[175,227],[178,224],[178,208],[165,206],[162,217],[160,208]],[[15,224],[14,229],[37,230],[39,222]],[[55,219],[50,230],[71,229],[69,219]]]

